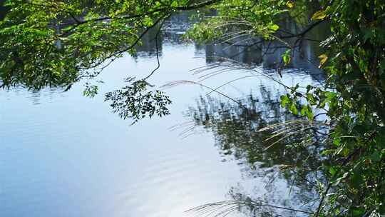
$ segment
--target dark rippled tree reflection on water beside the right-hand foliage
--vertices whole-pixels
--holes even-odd
[[[211,131],[222,157],[237,161],[245,179],[255,181],[252,196],[238,184],[229,191],[232,201],[209,203],[194,211],[212,216],[236,210],[248,216],[312,213],[319,198],[317,182],[323,181],[319,166],[327,163],[320,157],[323,147],[317,142],[322,134],[312,123],[282,109],[280,95],[260,86],[259,96],[250,94],[240,101],[242,105],[201,96],[197,107],[190,107],[187,114],[195,123],[190,130],[202,127]],[[260,131],[282,122],[290,124]],[[271,138],[273,134],[277,136]],[[285,191],[286,195],[282,195]]]

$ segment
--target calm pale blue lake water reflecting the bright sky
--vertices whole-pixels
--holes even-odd
[[[178,34],[178,29],[171,31],[163,41],[160,69],[150,78],[152,84],[198,81],[205,72],[194,74],[190,70],[212,64],[211,56],[233,56],[246,63],[259,58],[255,51],[235,55],[242,51],[236,47],[183,44]],[[263,158],[254,155],[250,162],[250,155],[242,152],[242,147],[227,147],[240,141],[250,145],[256,138],[227,135],[220,124],[234,123],[226,125],[234,132],[246,131],[247,123],[247,131],[252,131],[253,119],[240,120],[231,112],[228,117],[222,116],[227,111],[223,108],[231,107],[232,102],[215,93],[207,98],[209,90],[201,86],[185,84],[165,89],[173,104],[171,115],[164,118],[145,119],[130,126],[129,120],[111,113],[103,94],[123,86],[125,77],[150,73],[156,66],[153,48],[144,46],[135,58],[125,56],[105,69],[98,77],[104,82],[98,84],[100,94],[93,99],[82,96],[82,84],[66,92],[0,91],[0,216],[180,217],[192,215],[184,213],[189,208],[237,196],[297,207],[303,198],[296,193],[313,195],[301,185],[291,185],[286,176],[277,175],[277,164],[290,158],[286,156],[280,162],[285,154],[281,149]],[[266,55],[263,62],[279,58],[280,54]],[[293,68],[301,69],[283,71],[281,80],[285,84],[322,82],[314,64],[299,57],[293,64]],[[217,87],[245,75],[250,72],[229,71],[203,82]],[[220,91],[245,104],[252,99],[252,105],[262,104],[264,93],[270,93],[273,100],[284,93],[265,76],[237,80]],[[240,110],[234,108],[233,113]],[[216,121],[204,126],[193,113]],[[227,141],[225,135],[234,139]],[[277,176],[272,178],[274,174]],[[264,215],[271,212],[267,210]],[[295,216],[290,211],[280,213]]]

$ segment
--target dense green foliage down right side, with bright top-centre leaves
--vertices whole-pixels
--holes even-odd
[[[226,34],[246,28],[264,39],[295,38],[294,43],[283,43],[287,46],[287,52],[282,54],[283,64],[288,64],[297,43],[307,40],[307,32],[329,22],[331,33],[319,43],[324,48],[319,59],[327,76],[326,86],[308,86],[306,92],[298,86],[288,88],[289,93],[281,97],[282,106],[310,121],[314,121],[316,112],[327,114],[325,123],[330,129],[325,143],[331,144],[323,154],[332,156],[334,163],[324,166],[330,181],[320,192],[322,198],[315,215],[384,214],[385,4],[318,1],[314,12],[304,8],[305,4],[306,1],[225,1],[216,7],[220,16],[197,24],[192,34],[199,39],[205,34],[212,36],[215,29]],[[302,15],[294,15],[296,18],[309,17],[304,22],[306,26],[298,33],[281,34],[280,20],[298,12]]]

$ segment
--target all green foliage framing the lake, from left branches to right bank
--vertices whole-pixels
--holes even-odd
[[[385,214],[384,1],[9,0],[5,6],[0,21],[2,87],[70,87],[97,76],[108,61],[134,53],[147,31],[178,11],[216,11],[216,16],[197,15],[200,22],[189,31],[190,39],[231,44],[234,36],[247,34],[260,39],[256,44],[279,41],[287,49],[279,69],[290,64],[303,41],[317,42],[324,51],[319,67],[327,76],[325,86],[286,87],[281,97],[282,106],[311,123],[319,122],[320,113],[327,116],[322,124],[329,127],[323,141],[328,148],[322,154],[333,160],[322,167],[329,181],[322,183],[314,216]],[[287,19],[297,21],[295,31],[284,28]],[[308,38],[314,27],[325,23],[327,39]],[[108,95],[116,109],[133,106],[124,117],[138,118],[147,111],[132,98],[147,83],[143,79],[135,84],[139,86]],[[160,113],[167,114],[164,106],[170,102],[161,92],[145,97],[163,100]],[[138,104],[143,105],[156,113],[157,107]]]

